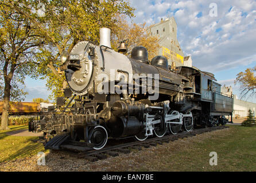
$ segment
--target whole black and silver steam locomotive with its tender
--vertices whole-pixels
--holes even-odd
[[[63,53],[65,97],[57,98],[56,106],[31,122],[29,130],[44,132],[47,141],[68,134],[98,150],[108,138],[144,141],[225,125],[224,116],[232,117],[232,97],[220,93],[214,74],[169,66],[161,55],[149,62],[142,46],[134,47],[131,58],[121,52],[111,48],[110,29],[101,28],[99,46],[82,41],[70,54]]]

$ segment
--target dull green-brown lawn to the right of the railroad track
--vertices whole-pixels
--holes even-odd
[[[209,164],[210,152],[218,165]],[[226,134],[167,148],[135,171],[256,171],[256,126],[230,126]]]

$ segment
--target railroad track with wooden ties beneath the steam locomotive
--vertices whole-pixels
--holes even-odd
[[[128,154],[131,152],[131,149],[137,149],[141,150],[143,148],[149,148],[150,146],[157,146],[157,144],[162,145],[163,143],[168,143],[170,141],[176,141],[179,140],[180,138],[185,138],[185,137],[192,137],[196,136],[196,134],[201,134],[205,132],[211,132],[214,130],[220,130],[220,129],[225,129],[229,128],[228,126],[214,126],[211,128],[203,128],[203,129],[194,129],[192,132],[182,132],[176,135],[169,134],[161,138],[149,138],[146,139],[145,141],[135,141],[135,142],[128,142],[125,144],[119,144],[119,145],[113,145],[113,146],[108,146],[100,150],[91,150],[88,149],[86,152],[82,153],[73,153],[69,152],[67,150],[63,150],[62,152],[72,154],[72,156],[76,156],[77,158],[85,158],[88,161],[94,162],[98,160],[104,160],[108,156],[118,156],[119,153],[125,153]]]

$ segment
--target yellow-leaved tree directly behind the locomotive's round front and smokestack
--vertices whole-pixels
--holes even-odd
[[[18,13],[30,19],[44,36],[47,44],[42,47],[38,58],[42,62],[38,73],[44,75],[48,89],[52,90],[51,99],[62,96],[63,86],[67,83],[64,73],[58,73],[57,67],[61,64],[59,59],[63,51],[72,50],[73,46],[84,40],[99,42],[100,27],[115,27],[117,14],[133,17],[133,8],[125,0],[41,0],[41,15],[32,13],[38,1],[30,2],[30,7],[21,9],[18,2],[8,5]],[[40,9],[36,9],[37,11]]]

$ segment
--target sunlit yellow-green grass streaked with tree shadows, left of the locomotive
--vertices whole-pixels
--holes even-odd
[[[13,130],[28,129],[28,126],[13,125],[9,128],[10,130],[0,130],[0,163],[16,158],[29,157],[44,151],[42,144],[31,141],[38,137],[15,137],[6,134],[6,132]]]

